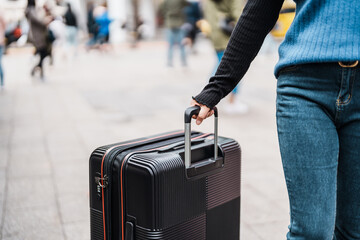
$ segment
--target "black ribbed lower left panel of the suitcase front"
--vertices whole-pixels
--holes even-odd
[[[136,240],[205,240],[206,216],[203,214],[160,231],[151,231],[137,226],[135,232]]]

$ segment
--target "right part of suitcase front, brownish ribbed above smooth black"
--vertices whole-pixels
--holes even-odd
[[[207,177],[207,240],[238,240],[240,236],[241,150],[234,140],[221,145],[222,172]]]

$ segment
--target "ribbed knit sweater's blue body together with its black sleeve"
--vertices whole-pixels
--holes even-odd
[[[360,60],[360,0],[297,0],[275,75],[303,63]],[[248,0],[221,64],[194,99],[213,108],[232,91],[275,25],[283,0]]]

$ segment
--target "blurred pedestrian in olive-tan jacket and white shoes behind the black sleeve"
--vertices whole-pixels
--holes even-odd
[[[215,48],[218,68],[229,42],[231,33],[244,7],[244,0],[206,0],[204,1],[204,16],[210,24],[210,39]],[[224,105],[227,114],[243,114],[248,106],[236,99],[239,87],[236,86],[229,94],[228,103]]]

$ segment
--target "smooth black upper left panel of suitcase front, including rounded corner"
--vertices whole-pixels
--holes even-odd
[[[165,229],[206,211],[206,179],[189,181],[179,154],[136,155],[126,172],[126,212],[145,229]]]

